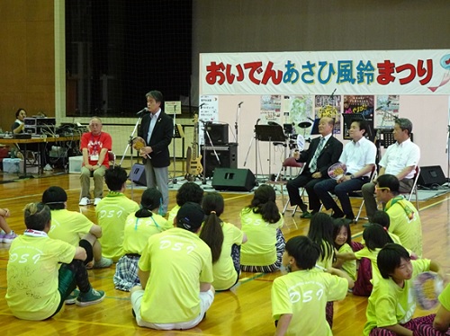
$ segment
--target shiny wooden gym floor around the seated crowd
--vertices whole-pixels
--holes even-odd
[[[0,185],[0,208],[11,210],[12,216],[8,219],[8,224],[16,233],[23,233],[23,206],[32,201],[39,201],[42,192],[51,185],[58,185],[67,190],[69,210],[81,211],[96,222],[93,206],[80,208],[77,205],[80,192],[77,174],[60,174],[5,182],[10,179],[11,177],[6,175],[0,176],[0,183],[3,182]],[[182,180],[183,178],[180,178],[179,183]],[[134,189],[133,199],[139,202],[141,193],[142,189]],[[130,197],[130,189],[126,191],[126,194]],[[447,274],[450,273],[450,226],[448,224],[450,197],[448,195],[450,194],[420,202],[424,256],[438,261]],[[249,204],[252,194],[223,193],[223,197],[226,208],[222,218],[238,225],[238,213],[241,208]],[[171,190],[169,208],[174,205],[175,190]],[[280,209],[284,206],[281,197],[279,197],[278,205]],[[360,240],[363,223],[365,220],[352,225],[352,233],[356,241]],[[291,217],[291,213],[286,213],[283,228],[286,239],[294,235],[307,234],[308,225],[309,220],[301,219],[298,214]],[[157,332],[139,328],[131,315],[129,294],[113,287],[113,267],[106,270],[89,270],[93,286],[106,292],[103,303],[87,307],[67,305],[62,314],[48,321],[21,321],[10,313],[4,300],[7,286],[8,247],[8,244],[0,243],[0,333],[2,335],[272,335],[275,332],[275,325],[271,318],[270,288],[272,281],[280,276],[281,272],[242,273],[236,287],[216,295],[206,319],[196,328],[184,332]],[[366,301],[365,297],[349,294],[345,300],[335,303],[333,325],[335,335],[362,333]],[[417,311],[416,315],[430,313],[432,312]],[[311,323],[314,322],[311,321]]]

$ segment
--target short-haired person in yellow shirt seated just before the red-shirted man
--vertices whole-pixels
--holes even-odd
[[[123,228],[130,214],[139,210],[139,204],[125,196],[127,172],[119,167],[110,167],[104,173],[104,181],[110,190],[95,207],[98,225],[102,227],[103,257],[119,261],[123,252]]]

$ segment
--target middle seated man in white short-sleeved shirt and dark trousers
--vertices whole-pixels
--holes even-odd
[[[369,181],[375,165],[376,146],[365,138],[367,129],[368,125],[365,119],[352,121],[348,130],[352,141],[344,146],[344,151],[339,157],[339,162],[347,166],[347,174],[338,180],[328,179],[320,181],[314,186],[314,191],[319,196],[324,207],[333,209],[331,217],[346,217],[348,221],[353,221],[355,218],[348,193],[361,190],[361,187]],[[342,209],[338,207],[329,191],[338,196]]]

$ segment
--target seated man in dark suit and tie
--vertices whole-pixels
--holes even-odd
[[[321,118],[319,122],[319,133],[321,137],[316,137],[311,141],[307,150],[294,152],[297,162],[305,163],[302,173],[295,179],[287,182],[287,191],[292,206],[299,206],[302,209],[302,218],[311,218],[320,210],[320,199],[314,192],[314,185],[325,179],[329,179],[329,167],[336,164],[342,153],[342,143],[333,137],[334,119]],[[308,212],[306,204],[303,203],[299,193],[299,188],[304,187],[308,192],[311,213]]]

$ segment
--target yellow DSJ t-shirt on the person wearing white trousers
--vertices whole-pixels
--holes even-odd
[[[200,314],[200,283],[212,283],[211,250],[183,228],[148,238],[139,269],[149,271],[140,306],[148,323],[182,323]]]

